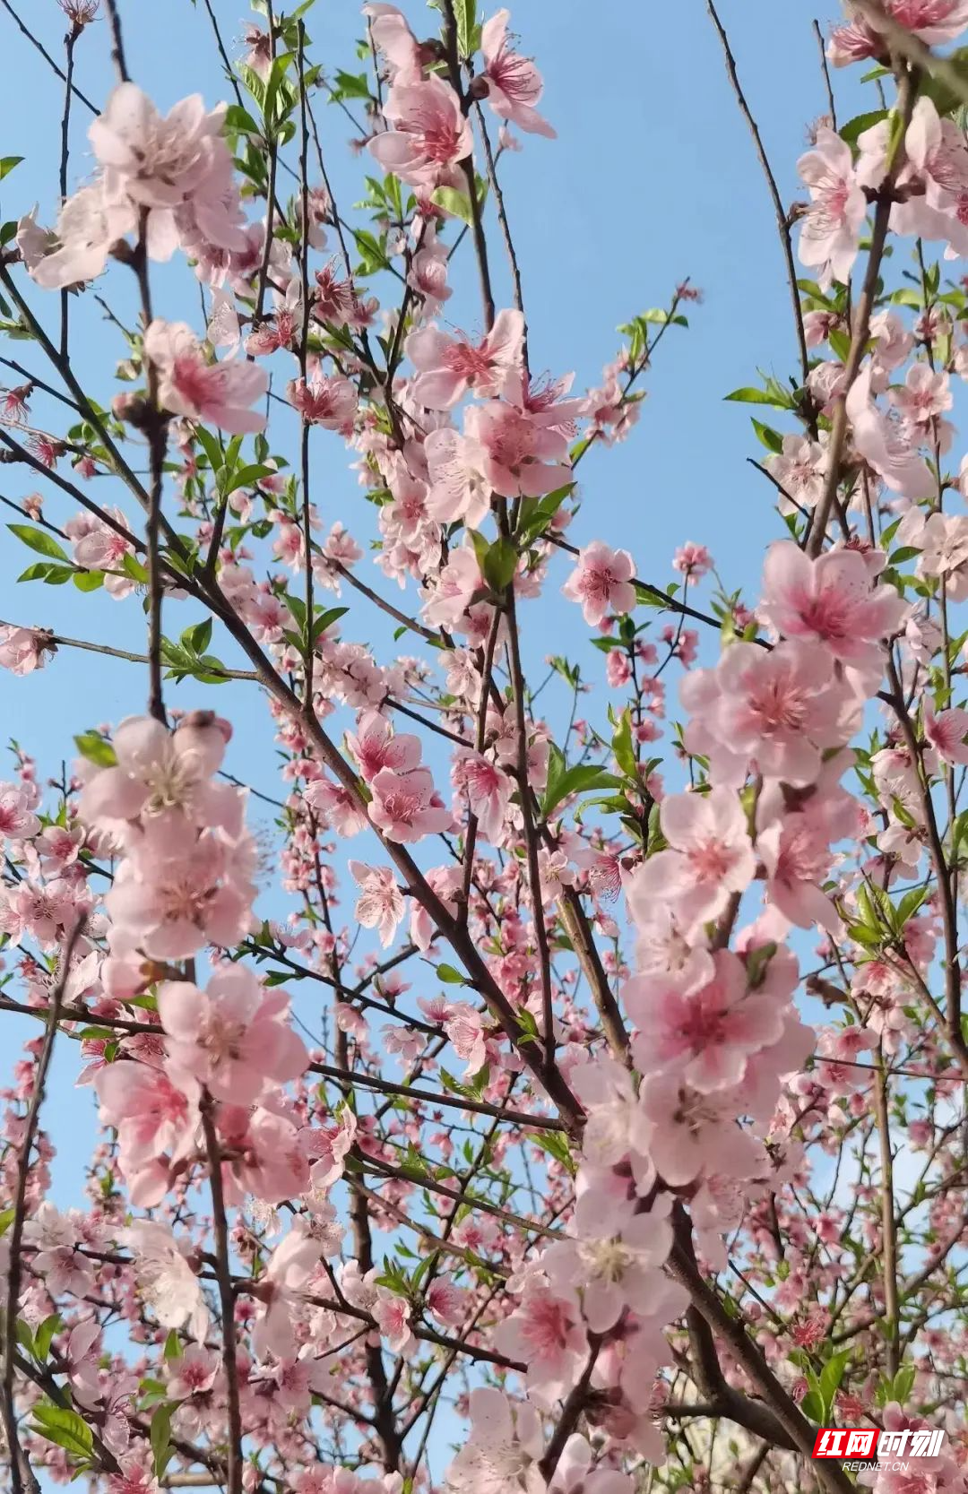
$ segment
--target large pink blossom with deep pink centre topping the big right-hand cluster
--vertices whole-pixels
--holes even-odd
[[[814,638],[843,663],[883,669],[878,642],[898,632],[907,604],[893,586],[874,586],[862,554],[828,550],[808,559],[781,539],[766,551],[760,616],[786,638]]]

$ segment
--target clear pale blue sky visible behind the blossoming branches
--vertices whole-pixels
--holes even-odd
[[[49,51],[61,57],[64,25],[55,0],[12,3]],[[214,4],[235,54],[243,0]],[[432,30],[435,12],[427,13],[424,27],[423,6],[406,10],[418,34]],[[819,13],[825,28],[834,12],[831,3]],[[209,103],[230,97],[202,3],[121,0],[121,13],[131,76],[161,108],[193,91]],[[814,15],[813,0],[722,0],[722,18],[787,203],[798,196],[795,161],[805,148],[807,127],[826,108],[811,33]],[[571,538],[586,542],[599,536],[627,547],[639,575],[659,584],[672,578],[674,548],[687,539],[702,541],[726,583],[744,586],[753,596],[775,518],[766,484],[745,465],[747,456],[760,454],[748,412],[723,403],[723,396],[753,382],[757,368],[784,378],[795,366],[795,344],[772,209],[705,6],[699,0],[665,6],[645,0],[520,0],[512,25],[521,34],[521,49],[536,57],[545,76],[542,112],[559,131],[556,142],[526,137],[524,151],[506,155],[500,167],[524,281],[533,368],[554,375],[575,371],[578,390],[595,385],[621,342],[618,323],[668,303],[674,285],[686,276],[705,293],[701,306],[687,308],[689,332],[674,329],[663,341],[632,438],[611,451],[592,453],[584,463],[584,508]],[[363,28],[354,0],[318,0],[308,27],[312,55],[326,69],[356,66],[354,40]],[[6,63],[0,148],[3,155],[27,158],[0,185],[0,217],[18,217],[39,200],[40,220],[52,221],[61,85],[3,10],[0,46]],[[76,76],[94,102],[106,97],[112,75],[103,21],[78,45]],[[854,76],[848,82],[835,75],[835,85],[841,120],[872,106],[851,97]],[[82,106],[75,109],[72,188],[91,169],[85,140],[90,117]],[[320,109],[327,164],[347,215],[360,194],[362,172],[376,169],[345,149],[351,134],[345,117],[323,102]],[[491,252],[497,302],[508,305],[496,235]],[[474,329],[480,311],[471,294],[472,267],[463,266],[453,278],[469,293],[457,294],[448,314]],[[184,270],[161,270],[155,302],[163,315],[194,320],[200,330],[193,285]],[[118,314],[133,320],[124,296],[115,296],[114,288],[111,294]],[[51,326],[57,297],[37,293],[33,302]],[[117,387],[112,374],[124,356],[122,341],[97,308],[88,305],[78,318],[76,368],[94,397],[108,403]],[[46,372],[27,342],[4,341],[0,353]],[[3,371],[0,382],[16,378]],[[342,518],[364,538],[369,509],[359,498],[341,442],[326,436],[317,444],[314,462],[314,500],[326,526]],[[0,492],[9,498],[19,500],[36,487],[24,469],[0,469]],[[70,500],[61,502],[51,490],[45,500],[55,521],[75,511]],[[4,620],[143,647],[134,601],[120,605],[103,593],[81,598],[70,586],[13,586],[31,559],[0,530]],[[369,571],[367,560],[362,566]],[[565,574],[560,563],[544,604],[524,610],[526,650],[532,660],[550,648],[581,657],[590,677],[602,681],[601,654],[587,648],[587,629],[577,608],[559,596]],[[376,571],[367,580],[391,590]],[[360,622],[347,636],[373,639],[387,662],[393,656],[388,630],[378,614],[366,613],[366,605],[354,607]],[[187,610],[184,617],[175,608],[169,611],[175,613],[170,632],[196,620]],[[232,686],[212,698],[187,684],[170,698],[182,705],[218,704],[236,723],[227,766],[257,787],[278,792],[272,732],[251,686]],[[0,675],[3,737],[16,737],[36,754],[43,775],[58,774],[63,757],[70,760],[72,734],[140,711],[143,699],[140,669],[75,651],[61,651],[28,680]],[[19,1035],[18,1026],[4,1019],[0,1076],[16,1056],[16,1043],[7,1043]],[[76,1065],[76,1049],[61,1044],[49,1119],[58,1144],[57,1194],[70,1201],[78,1198],[93,1134],[90,1112],[72,1089]]]

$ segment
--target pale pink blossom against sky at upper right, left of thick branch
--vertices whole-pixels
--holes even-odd
[[[801,261],[817,270],[823,290],[835,279],[847,284],[866,217],[866,197],[854,176],[850,146],[822,125],[814,149],[801,155],[796,169],[811,196],[801,227]]]

